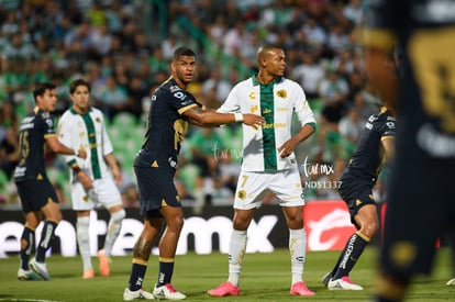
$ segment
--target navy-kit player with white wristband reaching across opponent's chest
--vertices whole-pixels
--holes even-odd
[[[206,111],[188,92],[187,86],[196,72],[196,54],[178,47],[170,64],[170,77],[152,96],[145,139],[134,161],[144,228],[133,249],[133,266],[123,300],[169,299],[186,295],[174,289],[171,277],[184,213],[174,183],[178,153],[188,125],[211,127],[243,122],[259,127],[264,119],[251,113],[219,113]],[[147,261],[155,237],[166,224],[159,241],[159,272],[153,293],[142,289]]]

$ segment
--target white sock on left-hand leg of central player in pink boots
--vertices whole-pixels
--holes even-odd
[[[229,279],[232,284],[238,287],[242,271],[243,256],[246,250],[246,231],[232,230],[229,246]]]

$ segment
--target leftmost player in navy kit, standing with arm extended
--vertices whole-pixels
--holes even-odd
[[[64,146],[57,139],[51,112],[57,103],[54,83],[38,83],[33,91],[36,107],[22,120],[19,126],[19,163],[14,170],[14,181],[25,214],[24,231],[21,236],[19,280],[51,280],[46,266],[46,250],[54,241],[55,228],[62,220],[57,194],[46,175],[44,152],[47,145],[52,152],[86,158],[84,149]],[[35,230],[44,215],[44,226],[35,257]],[[31,270],[33,269],[33,271]]]

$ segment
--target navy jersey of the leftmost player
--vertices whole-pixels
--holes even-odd
[[[46,137],[56,136],[54,121],[48,112],[36,108],[19,126],[19,164],[15,167],[15,182],[46,177],[44,143]]]

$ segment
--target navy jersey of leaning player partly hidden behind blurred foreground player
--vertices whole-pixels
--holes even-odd
[[[355,152],[347,164],[348,172],[360,179],[375,182],[385,163],[381,139],[395,136],[395,134],[396,120],[390,111],[382,108],[379,113],[369,116]]]

